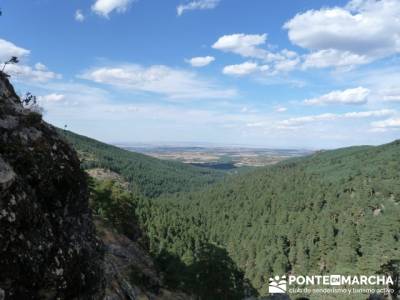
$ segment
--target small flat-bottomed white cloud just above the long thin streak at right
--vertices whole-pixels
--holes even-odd
[[[304,100],[304,103],[308,105],[365,104],[367,103],[367,98],[369,94],[369,89],[357,87],[354,89],[347,89],[343,91],[332,91],[317,98],[306,99]]]

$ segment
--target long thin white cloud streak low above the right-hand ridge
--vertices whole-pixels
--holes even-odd
[[[290,118],[283,120],[278,123],[279,128],[296,128],[309,123],[323,122],[323,121],[334,121],[339,119],[361,119],[361,118],[372,118],[372,117],[387,117],[395,114],[396,111],[391,109],[371,110],[371,111],[360,111],[360,112],[349,112],[344,114],[325,113],[320,115],[311,115],[297,118]]]

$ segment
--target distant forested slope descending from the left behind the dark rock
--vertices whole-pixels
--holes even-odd
[[[154,198],[199,189],[224,176],[222,171],[163,161],[66,130],[59,133],[77,150],[85,169],[104,168],[124,177],[132,190]]]

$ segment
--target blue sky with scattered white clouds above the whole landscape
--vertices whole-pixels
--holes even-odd
[[[0,62],[44,119],[109,143],[400,136],[398,0],[0,0]]]

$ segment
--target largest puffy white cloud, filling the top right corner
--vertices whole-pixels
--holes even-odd
[[[399,53],[400,2],[353,0],[346,7],[297,14],[284,28],[311,50],[305,67],[353,66]]]

